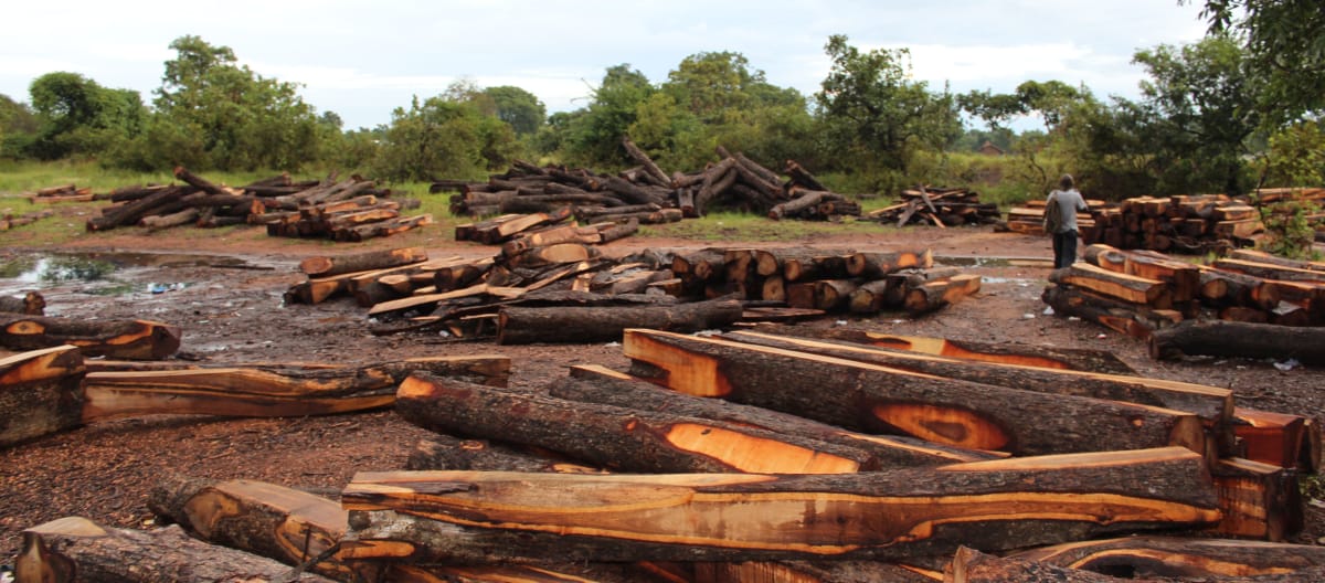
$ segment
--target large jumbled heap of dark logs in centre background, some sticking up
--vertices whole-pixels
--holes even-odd
[[[828,191],[794,160],[787,160],[783,178],[741,152],[718,147],[719,162],[702,171],[669,175],[629,138],[623,146],[639,166],[615,175],[517,160],[485,183],[436,180],[431,192],[457,192],[450,200],[454,216],[554,212],[566,207],[583,221],[635,219],[641,224],[698,217],[713,208],[767,213],[772,219],[860,215],[860,204]]]

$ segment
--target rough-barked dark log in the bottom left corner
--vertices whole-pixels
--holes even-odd
[[[24,530],[15,575],[24,583],[333,582],[313,574],[290,578],[286,564],[208,545],[189,538],[178,526],[140,531],[101,526],[81,517]]]

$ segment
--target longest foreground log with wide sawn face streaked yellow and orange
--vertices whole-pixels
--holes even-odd
[[[360,472],[341,500],[343,556],[461,564],[878,559],[1219,519],[1182,448],[833,476]]]

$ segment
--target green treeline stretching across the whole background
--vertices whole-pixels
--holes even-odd
[[[1202,15],[1200,41],[1136,52],[1146,73],[1137,101],[1055,80],[954,94],[914,81],[906,49],[861,50],[832,36],[832,66],[811,95],[770,83],[741,53],[704,52],[661,81],[608,68],[574,111],[549,115],[521,87],[458,81],[368,129],[343,127],[231,48],[184,36],[150,101],[73,72],[36,78],[28,95],[0,94],[0,158],[416,182],[480,178],[517,159],[619,170],[632,166],[629,136],[669,171],[702,168],[722,146],[774,168],[796,160],[843,192],[892,193],[987,179],[990,168],[954,152],[990,143],[1006,152],[996,178],[1027,193],[1064,171],[1114,200],[1325,184],[1316,0],[1206,0]],[[1036,129],[1012,131],[1028,121]]]

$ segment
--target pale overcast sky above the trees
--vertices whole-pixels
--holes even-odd
[[[297,82],[303,99],[346,129],[391,121],[411,97],[456,80],[514,85],[549,113],[582,107],[607,68],[653,83],[702,52],[743,54],[768,82],[807,97],[845,34],[861,49],[912,50],[913,74],[941,90],[1011,91],[1026,80],[1085,83],[1136,98],[1132,54],[1199,40],[1203,3],[1177,0],[931,1],[21,1],[0,24],[0,93],[29,101],[50,72],[132,89],[151,102],[172,40],[195,34],[235,50],[264,77]]]

